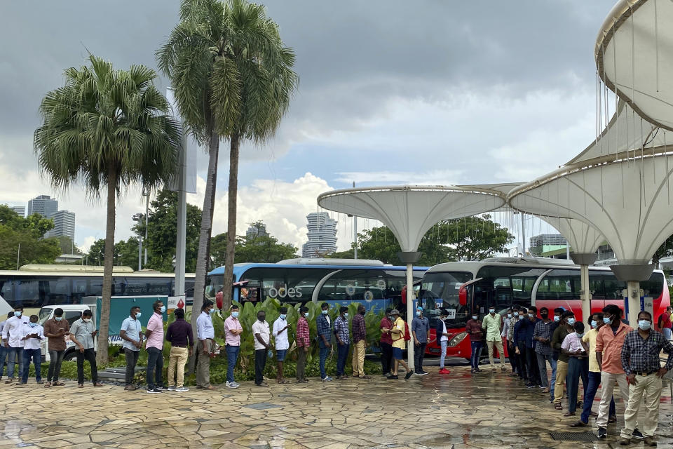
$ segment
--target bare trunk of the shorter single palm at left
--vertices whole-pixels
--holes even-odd
[[[114,267],[114,219],[116,214],[117,173],[111,164],[107,181],[107,223],[105,227],[105,253],[103,269],[102,302],[100,307],[100,322],[98,323],[98,351],[96,361],[99,364],[107,363],[107,335],[110,324],[110,297],[112,296],[112,267]]]

